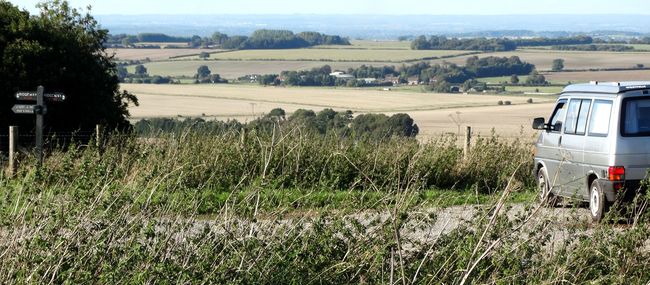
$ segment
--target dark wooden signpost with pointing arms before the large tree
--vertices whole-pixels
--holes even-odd
[[[65,94],[63,93],[44,93],[44,91],[43,86],[38,86],[36,92],[18,91],[16,93],[16,100],[36,101],[36,105],[16,104],[11,108],[15,114],[36,115],[36,158],[39,167],[43,164],[43,117],[47,114],[45,101],[65,101]]]

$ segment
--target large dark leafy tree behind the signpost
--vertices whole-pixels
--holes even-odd
[[[116,64],[104,44],[108,31],[66,1],[38,5],[30,15],[0,0],[0,132],[18,125],[29,132],[32,116],[16,116],[11,106],[18,90],[62,92],[66,101],[50,104],[47,131],[128,129],[128,104],[137,98],[120,91]],[[4,144],[6,145],[6,144]]]

